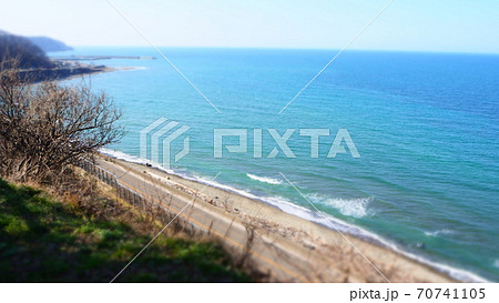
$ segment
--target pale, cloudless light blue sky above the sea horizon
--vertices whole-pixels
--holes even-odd
[[[340,49],[389,0],[109,0],[156,47]],[[149,46],[106,0],[2,0],[0,30]],[[498,0],[395,0],[349,47],[499,53]]]

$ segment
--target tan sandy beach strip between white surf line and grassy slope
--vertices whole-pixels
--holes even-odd
[[[118,176],[134,176],[135,181],[125,183],[133,189],[149,182],[156,191],[161,188],[173,198],[197,196],[195,208],[207,210],[215,220],[231,222],[230,226],[252,226],[262,241],[277,248],[277,259],[278,251],[286,252],[286,257],[296,265],[294,271],[302,271],[299,275],[306,279],[296,282],[455,282],[447,274],[384,245],[339,233],[262,201],[109,156],[102,156],[99,165]],[[211,222],[210,229],[213,219]],[[269,276],[268,281],[289,282],[283,275]]]

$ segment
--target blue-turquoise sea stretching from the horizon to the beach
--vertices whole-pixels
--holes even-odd
[[[99,60],[140,69],[93,75],[123,109],[126,134],[109,147],[139,156],[139,133],[157,118],[191,129],[177,173],[327,225],[285,175],[336,228],[381,241],[455,276],[499,281],[499,55],[346,51],[283,113],[335,50],[77,48],[70,54],[154,55]],[[89,63],[86,61],[86,63]],[[81,80],[72,80],[79,82]],[[247,131],[247,153],[213,152],[214,129]],[[262,158],[254,158],[262,129]],[[286,158],[267,129],[284,134]],[[328,129],[310,158],[301,129]],[[326,158],[346,129],[360,158]],[[182,149],[182,140],[173,149]],[[225,138],[224,144],[237,144]]]

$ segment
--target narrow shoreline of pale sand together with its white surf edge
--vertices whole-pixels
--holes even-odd
[[[283,205],[271,203],[259,196],[242,192],[228,185],[220,183],[207,184],[208,182],[206,180],[200,178],[175,173],[174,171],[165,170],[160,166],[145,166],[145,164],[149,163],[146,160],[141,160],[125,153],[110,150],[103,150],[101,153],[105,156],[110,156],[113,161],[119,161],[119,165],[143,171],[144,173],[147,172],[150,176],[162,183],[169,184],[174,182],[176,188],[181,188],[187,193],[192,193],[196,189],[198,190],[202,185],[208,185],[206,186],[208,190],[205,190],[208,192],[206,194],[206,201],[208,203],[211,202],[211,204],[218,208],[225,208],[226,211],[227,204],[231,204],[233,210],[237,210],[238,215],[254,216],[253,220],[259,220],[259,225],[267,229],[271,233],[278,233],[292,241],[297,241],[305,248],[314,248],[313,250],[315,250],[320,246],[327,251],[330,243],[337,244],[342,242],[342,238],[345,238],[348,242],[352,241],[352,243],[355,243],[355,246],[363,246],[364,250],[359,251],[366,255],[370,255],[371,257],[369,259],[376,260],[376,263],[383,263],[385,267],[411,267],[410,270],[415,273],[409,280],[413,282],[487,282],[487,280],[471,272],[455,269],[446,264],[427,260],[415,253],[407,252],[403,248],[399,248],[375,233],[348,224],[330,215],[327,215],[328,220],[333,221],[334,224],[338,223],[339,225],[343,225],[343,231],[335,231],[333,226],[328,226],[328,223],[325,222],[322,216],[304,208],[303,210],[309,214],[308,218],[297,215],[289,210],[283,210]],[[221,196],[225,196],[225,200],[220,199]],[[295,209],[301,208],[293,203],[289,203],[288,206]],[[357,233],[353,233],[353,230]],[[353,249],[352,245],[345,245],[345,243],[339,246],[340,250],[345,252],[352,251]],[[381,257],[383,261],[378,261],[378,257]]]

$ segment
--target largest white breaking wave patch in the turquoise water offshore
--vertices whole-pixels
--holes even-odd
[[[317,194],[309,194],[307,198],[315,203],[335,208],[342,214],[364,218],[368,214],[367,206],[374,200],[373,196],[369,198],[357,198],[357,199],[340,199],[340,198],[325,198]]]

